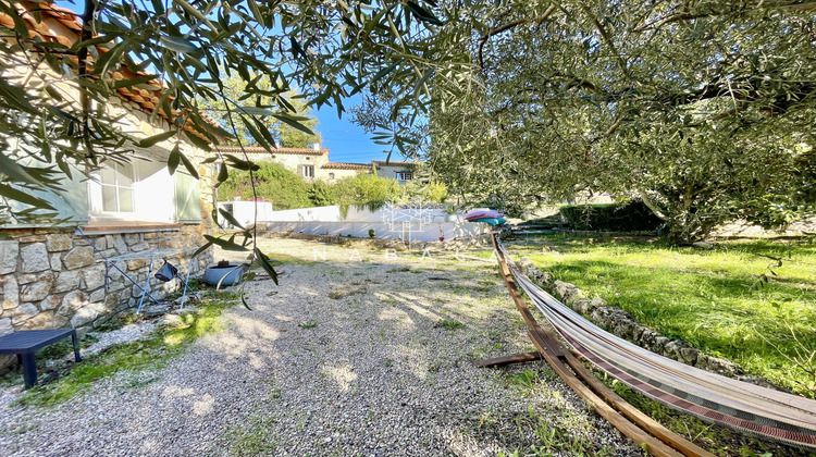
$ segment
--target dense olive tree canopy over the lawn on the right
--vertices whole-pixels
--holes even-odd
[[[678,240],[813,213],[816,2],[484,10],[468,44],[479,84],[434,86],[429,160],[452,188],[638,196]]]

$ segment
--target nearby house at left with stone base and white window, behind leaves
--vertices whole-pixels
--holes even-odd
[[[30,34],[44,41],[70,46],[78,39],[82,24],[69,10],[50,3],[25,2],[16,7],[39,9],[39,14],[22,16]],[[54,74],[45,63],[37,69],[11,69],[2,77],[10,84],[36,88],[45,83],[39,75],[46,75],[48,84],[59,87],[69,102],[79,102],[75,76]],[[113,77],[138,75],[120,67]],[[171,128],[161,115],[150,118],[162,95],[160,84],[152,86],[151,90],[120,88],[103,104],[107,114],[116,119],[114,127],[137,140]],[[188,133],[197,134],[190,129]],[[11,150],[1,153],[23,157],[24,151],[14,146],[15,141],[11,144]],[[176,146],[193,163],[203,161],[202,150],[176,136],[149,148],[136,147],[127,160],[107,161],[90,173],[74,165],[72,178],[65,177],[62,183],[64,192],[38,193],[66,222],[23,224],[5,214],[0,224],[0,335],[23,329],[90,328],[136,305],[140,288],[118,271],[107,269],[88,239],[107,257],[133,255],[116,264],[139,283],[144,284],[150,274],[149,252],[156,248],[176,249],[178,255],[171,260],[186,272],[189,255],[205,244],[202,235],[211,233],[202,214],[212,209],[212,175],[206,166],[197,170],[200,180],[183,168],[170,174],[165,162]],[[76,233],[77,227],[88,239]],[[194,275],[211,261],[211,251],[199,255],[191,265]],[[153,281],[151,293],[160,297],[165,287],[169,286]]]

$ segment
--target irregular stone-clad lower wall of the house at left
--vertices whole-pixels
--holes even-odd
[[[182,225],[166,231],[87,235],[106,257],[153,248],[183,249],[184,255],[169,260],[186,273],[189,255],[205,243],[201,230],[201,225]],[[3,230],[0,235],[0,336],[28,329],[86,330],[138,302],[141,291],[113,268],[106,289],[101,256],[75,235],[74,228]],[[146,255],[116,265],[144,284],[149,259]],[[191,276],[200,275],[211,261],[211,250],[199,255]],[[160,259],[153,262],[153,273],[161,264]],[[177,280],[161,283],[151,279],[150,293],[160,298],[177,286]],[[0,367],[3,365],[0,360]]]

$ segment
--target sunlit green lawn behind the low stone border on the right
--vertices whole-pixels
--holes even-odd
[[[517,260],[529,257],[590,297],[619,306],[665,336],[816,395],[813,242],[730,242],[701,250],[549,236],[514,244],[510,252]],[[781,258],[781,265],[764,256]],[[763,274],[767,282],[759,280]]]

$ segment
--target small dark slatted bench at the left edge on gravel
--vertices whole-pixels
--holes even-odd
[[[74,329],[21,330],[0,336],[0,354],[17,355],[17,360],[23,365],[25,388],[29,388],[37,383],[37,363],[34,361],[34,354],[38,349],[69,336],[74,343],[74,358],[76,361],[82,361],[79,347],[76,344],[76,330]]]

